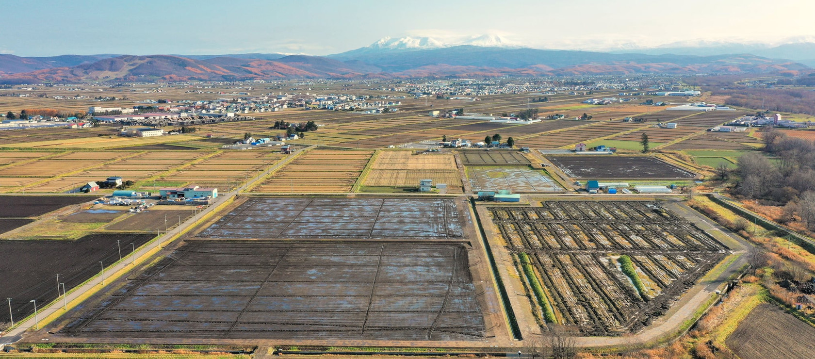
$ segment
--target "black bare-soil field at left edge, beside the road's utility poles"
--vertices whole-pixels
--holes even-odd
[[[91,234],[75,241],[0,241],[0,296],[11,298],[15,320],[33,313],[32,299],[46,304],[57,298],[56,277],[71,290],[99,273],[99,261],[104,266],[119,260],[117,240],[122,250],[130,251],[130,243],[138,248],[152,234]],[[43,265],[48,264],[48,265]],[[8,310],[0,312],[0,328],[9,324]]]

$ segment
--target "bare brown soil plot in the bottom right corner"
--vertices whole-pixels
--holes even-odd
[[[725,343],[742,359],[808,359],[815,352],[815,328],[773,304],[761,304]]]

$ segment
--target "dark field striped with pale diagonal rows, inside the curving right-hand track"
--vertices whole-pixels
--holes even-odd
[[[544,201],[542,207],[488,209],[496,234],[517,257],[522,281],[543,288],[530,301],[535,316],[585,335],[649,326],[728,253],[656,202]],[[641,286],[620,269],[621,256],[631,260]]]

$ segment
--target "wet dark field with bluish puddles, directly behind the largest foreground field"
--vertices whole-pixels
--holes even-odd
[[[251,197],[196,237],[445,239],[469,225],[456,199]]]

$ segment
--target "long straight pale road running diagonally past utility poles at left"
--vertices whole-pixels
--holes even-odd
[[[144,255],[148,255],[148,253],[150,253],[152,250],[155,250],[157,247],[163,248],[169,245],[170,242],[174,241],[179,234],[182,234],[186,232],[188,229],[190,229],[191,226],[195,224],[196,221],[198,221],[198,219],[200,219],[202,216],[209,215],[210,213],[217,211],[220,205],[230,201],[232,197],[235,197],[241,191],[244,191],[246,188],[249,188],[256,182],[258,182],[258,180],[261,180],[262,178],[266,177],[267,175],[269,175],[269,173],[271,173],[271,171],[275,171],[281,166],[285,166],[286,163],[289,163],[289,161],[291,161],[294,157],[297,157],[297,155],[302,153],[302,151],[304,150],[297,151],[289,155],[289,157],[285,157],[282,161],[275,163],[275,165],[269,167],[266,171],[263,171],[261,174],[253,177],[252,179],[250,179],[240,187],[236,188],[232,192],[222,193],[217,198],[215,198],[215,201],[211,205],[207,206],[204,210],[198,212],[196,215],[193,215],[190,219],[187,219],[181,225],[177,226],[174,229],[171,229],[170,231],[165,232],[164,234],[161,235],[161,237],[158,237],[157,240],[150,242],[150,244],[148,244],[147,246],[142,246],[141,248],[136,250],[134,254],[125,257],[117,264],[114,264],[108,268],[104,268],[103,276],[97,277],[91,281],[87,281],[85,284],[81,286],[73,288],[68,293],[67,298],[68,302],[73,302],[73,300],[81,298],[89,291],[99,290],[101,289],[101,287],[104,287],[102,281],[103,277],[104,278],[112,277],[114,273],[119,273],[120,271],[129,272],[131,269],[135,268],[135,266],[131,264],[133,264],[136,259],[141,259]],[[110,282],[111,281],[106,281],[105,284]],[[44,319],[57,312],[65,312],[65,309],[62,306],[62,304],[63,298],[59,297],[55,299],[55,301],[51,302],[51,304],[47,304],[45,306],[42,306],[41,308],[37,308],[38,309],[37,317]],[[15,323],[15,326],[11,328],[11,330],[8,330],[7,332],[2,333],[2,335],[0,335],[0,344],[15,343],[19,341],[22,338],[25,331],[37,330],[36,322],[37,322],[36,318],[29,317],[27,320],[24,320],[20,323]],[[42,326],[40,326],[40,328],[42,328]]]

